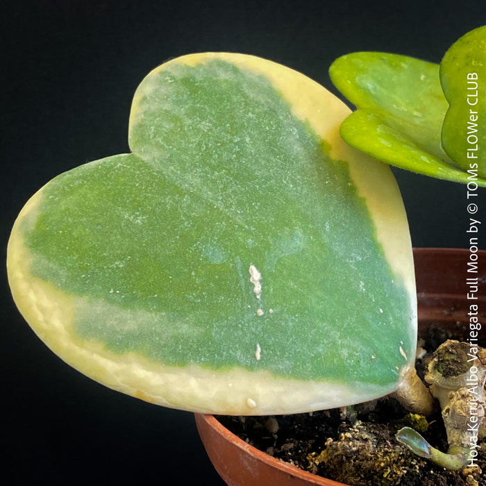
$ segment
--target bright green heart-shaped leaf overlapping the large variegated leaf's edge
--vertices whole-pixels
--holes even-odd
[[[469,174],[442,148],[448,103],[439,65],[407,56],[358,52],[330,67],[330,78],[358,110],[341,127],[351,146],[383,162],[446,181]],[[485,179],[478,179],[486,186]]]

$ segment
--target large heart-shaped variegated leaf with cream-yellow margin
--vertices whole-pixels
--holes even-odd
[[[267,60],[171,60],[138,88],[133,153],[53,179],[12,230],[27,321],[147,401],[289,413],[394,390],[414,362],[412,252],[385,166],[333,94]]]

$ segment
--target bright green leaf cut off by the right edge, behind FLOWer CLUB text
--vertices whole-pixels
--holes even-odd
[[[486,26],[446,52],[440,81],[449,101],[442,127],[444,150],[465,170],[486,177]],[[476,164],[476,165],[475,165]]]

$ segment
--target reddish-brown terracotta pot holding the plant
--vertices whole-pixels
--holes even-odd
[[[483,312],[486,309],[486,294],[476,301],[467,299],[471,292],[468,277],[486,281],[483,265],[478,265],[478,274],[468,274],[469,255],[469,249],[414,249],[422,334],[433,324],[451,330],[468,324],[471,303],[478,303]],[[485,257],[486,251],[478,251],[478,260],[484,262]],[[486,333],[483,341],[485,338]],[[347,486],[272,458],[231,433],[212,415],[196,414],[196,424],[212,464],[230,486]]]

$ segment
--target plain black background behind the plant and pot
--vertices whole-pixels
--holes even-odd
[[[200,51],[251,53],[333,90],[328,66],[344,53],[388,51],[439,62],[460,35],[486,24],[479,3],[2,3],[3,261],[10,227],[33,192],[62,171],[128,151],[135,87],[165,60]],[[414,246],[467,247],[465,187],[395,173]],[[484,196],[483,190],[483,215]],[[5,484],[223,484],[192,414],[112,392],[67,367],[25,324],[6,278],[2,285]]]

